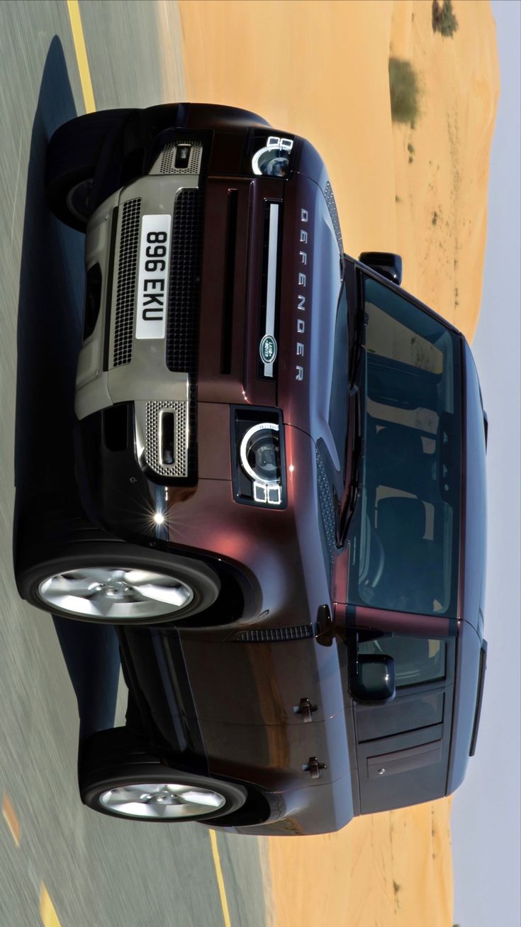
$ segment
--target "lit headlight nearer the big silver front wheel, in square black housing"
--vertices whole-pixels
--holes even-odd
[[[235,499],[237,502],[286,504],[283,431],[280,413],[235,407]],[[261,420],[260,420],[261,419]]]

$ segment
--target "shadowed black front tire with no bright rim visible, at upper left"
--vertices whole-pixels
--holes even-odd
[[[47,147],[45,193],[52,212],[84,232],[92,214],[89,191],[104,142],[131,109],[104,109],[65,122]]]

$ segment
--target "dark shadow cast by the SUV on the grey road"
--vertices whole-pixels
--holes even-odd
[[[80,509],[74,475],[74,378],[83,320],[83,235],[45,202],[48,141],[77,115],[63,47],[49,46],[32,124],[19,279],[14,552],[48,511]],[[113,628],[54,616],[78,699],[80,736],[112,727],[120,657]]]

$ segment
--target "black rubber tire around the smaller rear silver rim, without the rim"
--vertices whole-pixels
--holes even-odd
[[[154,812],[157,811],[158,804],[153,799],[143,802],[144,807],[147,806],[150,812],[147,815],[125,814],[110,806],[110,801],[115,797],[115,789],[167,783],[184,787],[190,792],[197,790],[201,797],[205,794],[215,796],[213,800],[221,804],[212,806],[210,810],[201,813],[199,811],[201,806],[194,807],[190,803],[193,813],[184,813],[182,817],[168,817],[169,810],[166,810],[166,817],[155,817]],[[112,818],[145,820],[148,823],[172,824],[186,820],[219,819],[243,806],[248,797],[247,790],[233,782],[210,779],[208,776],[175,769],[161,763],[159,757],[152,756],[146,746],[133,741],[132,735],[129,735],[124,728],[99,731],[83,743],[80,755],[79,784],[84,805]],[[108,793],[111,794],[108,795]],[[147,793],[153,794],[153,790],[148,789]],[[104,804],[104,796],[106,804]],[[169,803],[161,804],[168,805]],[[181,806],[177,806],[176,802],[172,802],[172,806],[172,814],[175,815],[176,807]],[[161,810],[164,811],[165,808],[162,807]],[[186,810],[185,805],[184,812]]]

